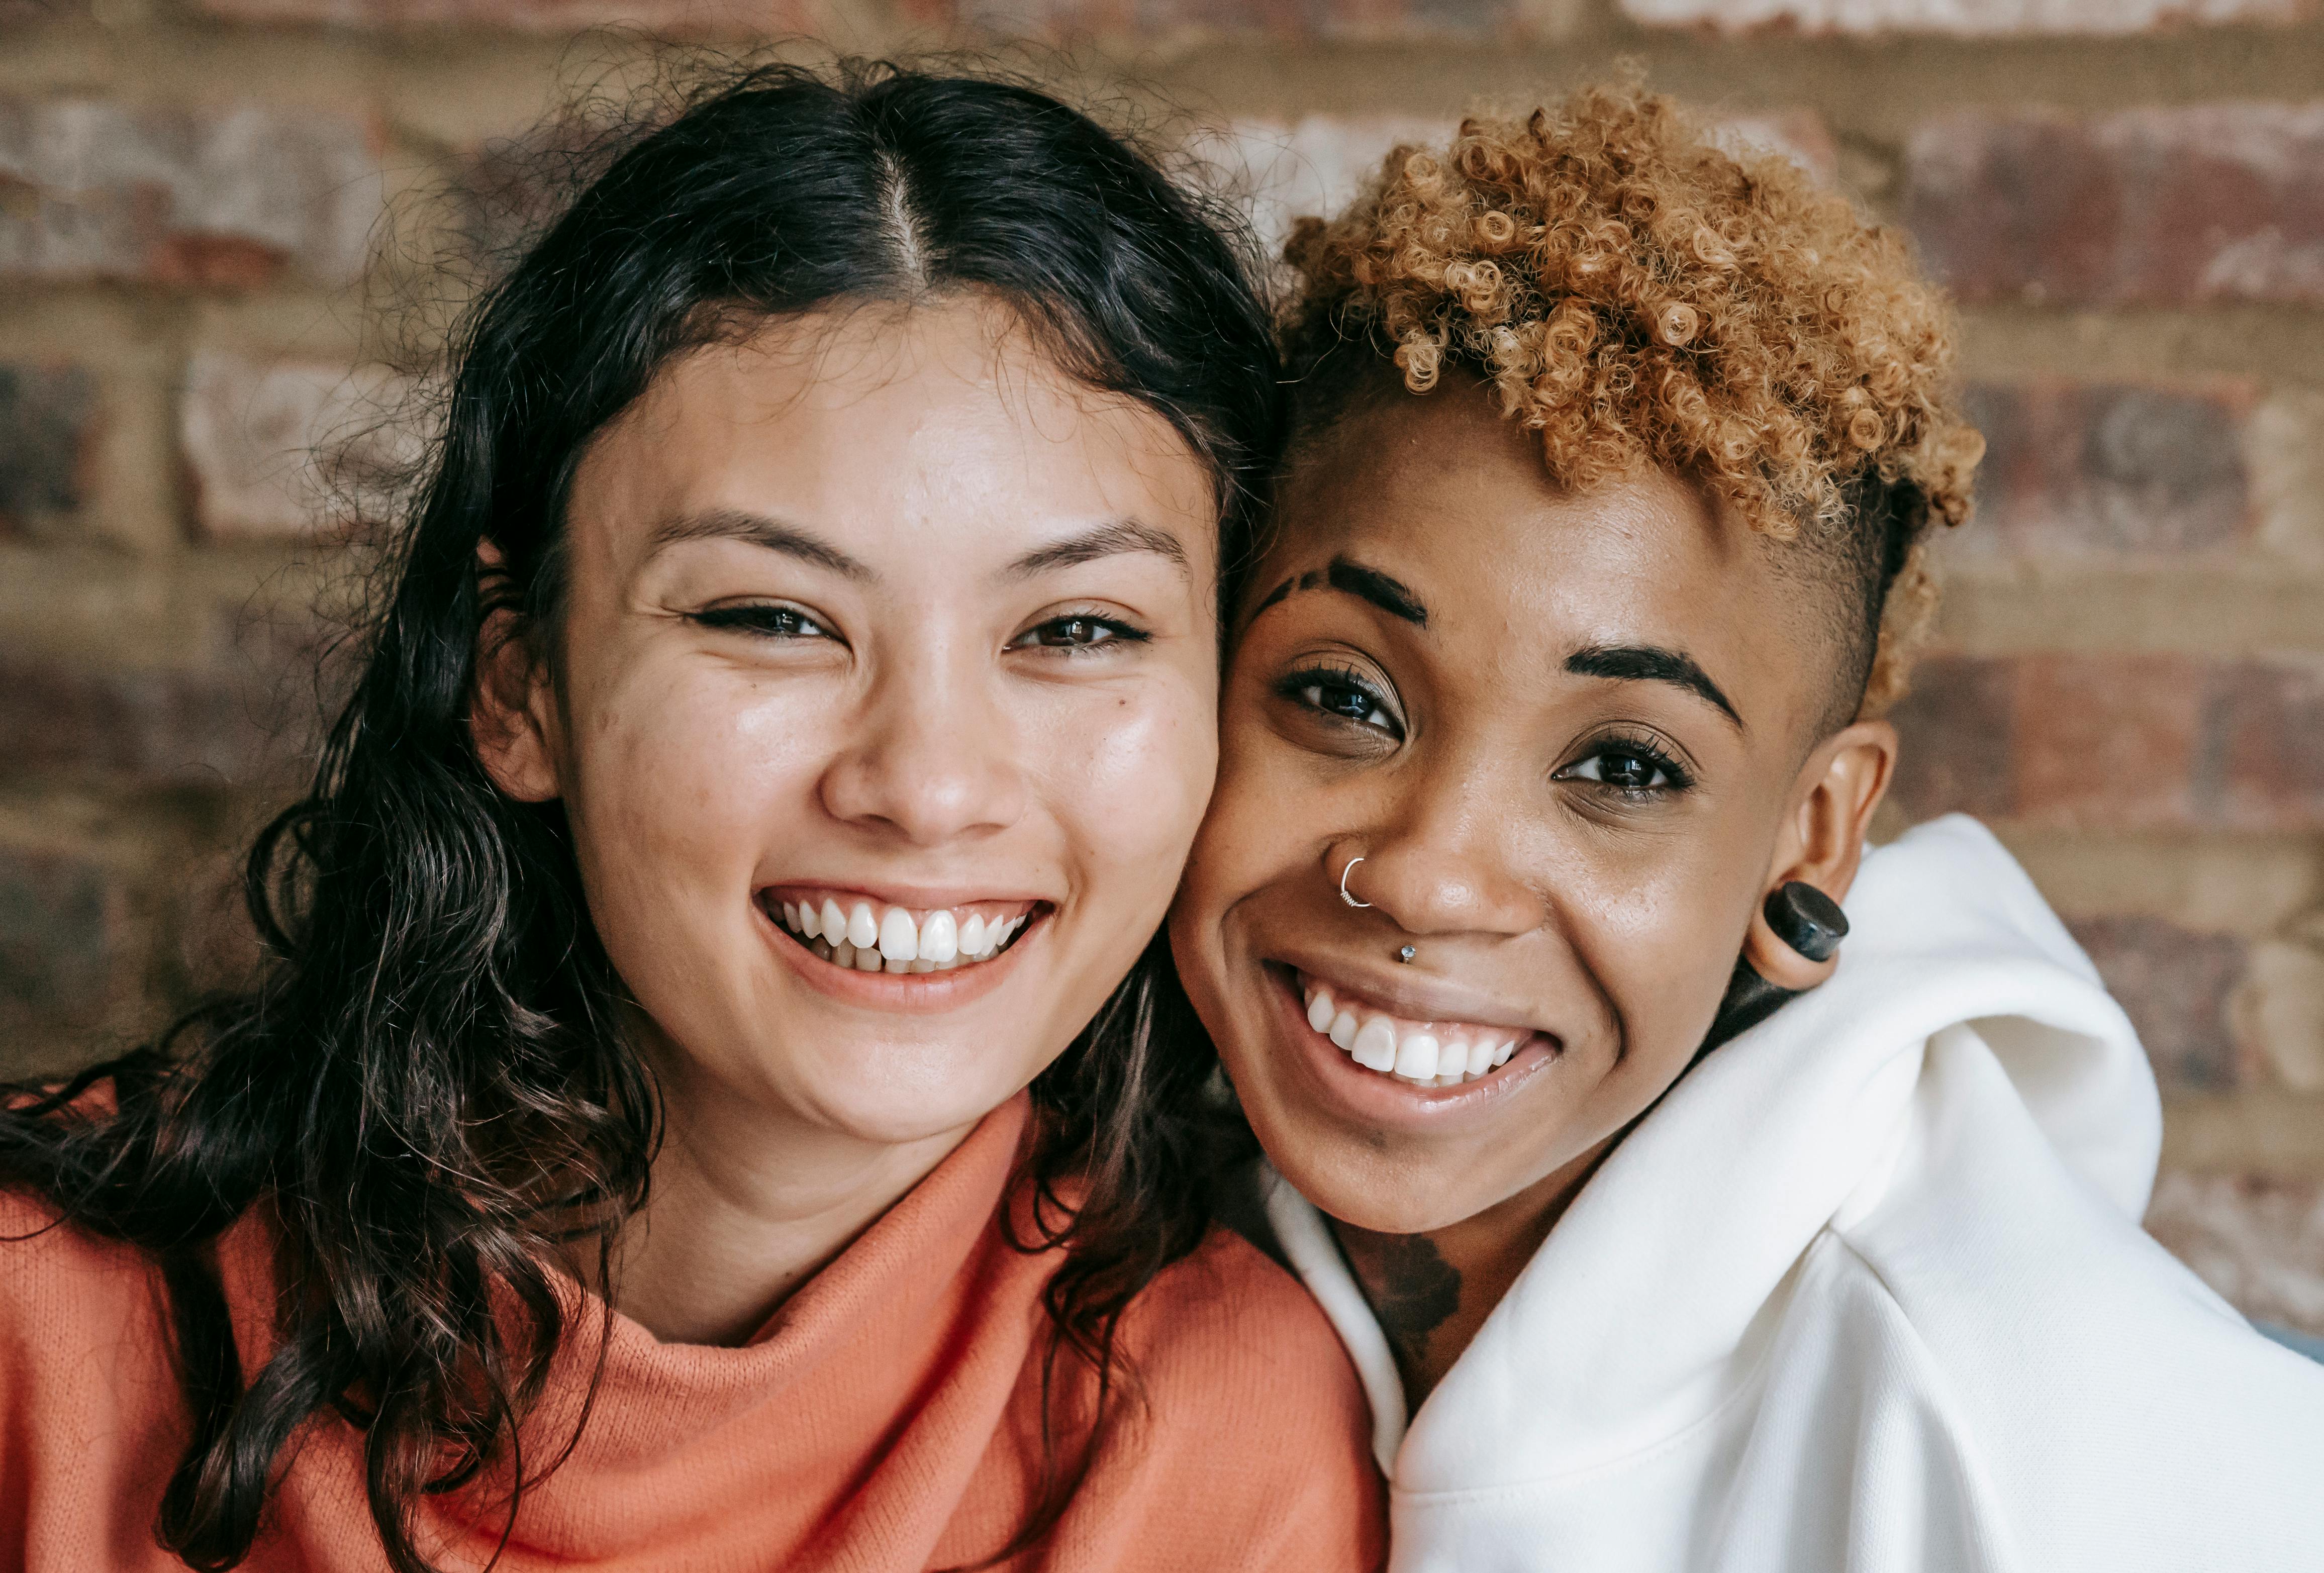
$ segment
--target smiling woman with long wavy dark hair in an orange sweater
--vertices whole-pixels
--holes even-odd
[[[1373,1561],[1150,943],[1278,430],[1234,251],[1034,91],[765,70],[453,369],[272,971],[7,1094],[0,1564]]]

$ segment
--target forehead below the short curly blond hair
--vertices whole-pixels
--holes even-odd
[[[1406,583],[1425,644],[1459,660],[1548,671],[1592,646],[1683,651],[1752,730],[1785,730],[1820,692],[1769,541],[1662,469],[1555,486],[1538,437],[1476,386],[1367,402],[1299,453],[1257,588],[1339,555]]]

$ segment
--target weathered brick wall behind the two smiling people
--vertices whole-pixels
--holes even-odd
[[[397,444],[374,225],[502,202],[504,139],[634,53],[604,23],[1127,70],[1267,225],[1634,56],[1906,225],[1992,465],[1892,820],[2027,860],[2154,1055],[2152,1227],[2324,1331],[2319,0],[0,0],[5,1069],[249,967],[230,848],[346,579],[304,455]]]

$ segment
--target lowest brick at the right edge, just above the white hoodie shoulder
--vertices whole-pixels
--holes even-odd
[[[2147,1231],[2243,1315],[2324,1334],[2324,1183],[2164,1173]]]

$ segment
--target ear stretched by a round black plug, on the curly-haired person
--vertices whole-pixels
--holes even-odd
[[[1887,795],[1894,769],[1896,727],[1885,720],[1859,720],[1834,732],[1801,764],[1792,785],[1792,809],[1776,834],[1766,885],[1743,934],[1743,960],[1776,987],[1815,987],[1831,976],[1841,957],[1810,962],[1787,946],[1766,920],[1766,897],[1792,881],[1803,881],[1841,902],[1857,883],[1864,832]]]

